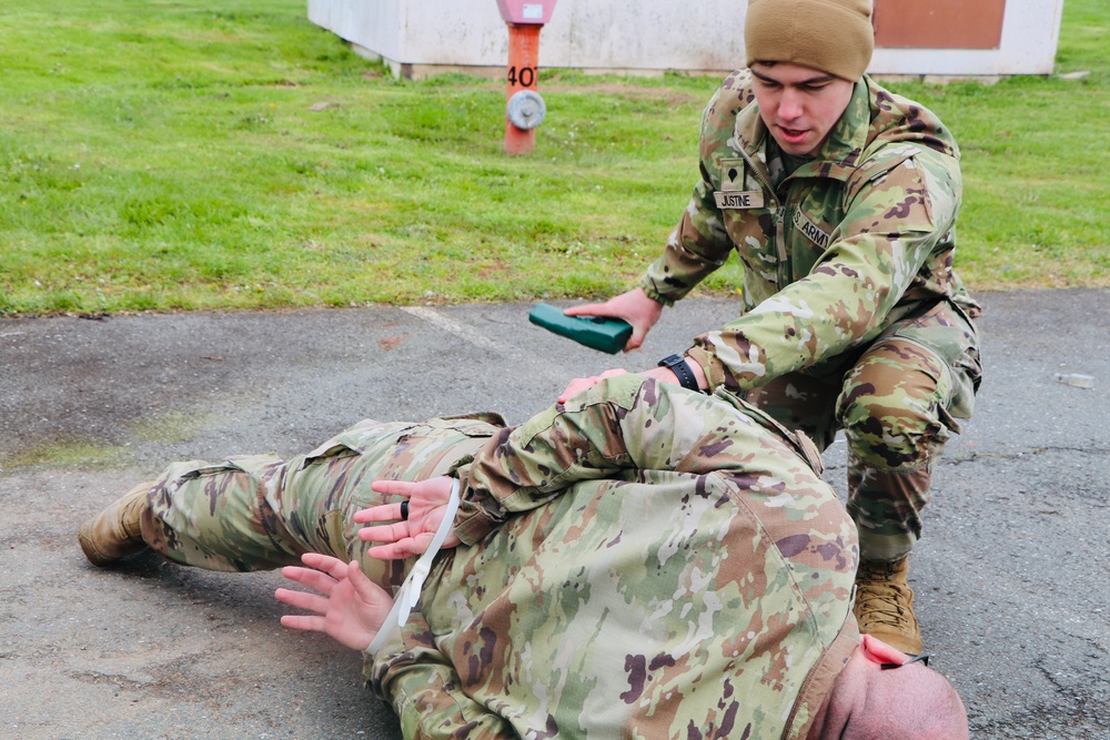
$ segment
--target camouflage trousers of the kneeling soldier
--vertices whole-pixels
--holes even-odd
[[[971,417],[979,377],[975,325],[940,302],[892,324],[847,372],[789,373],[746,399],[823,450],[844,429],[860,559],[897,560],[921,536],[934,469],[956,419]]]

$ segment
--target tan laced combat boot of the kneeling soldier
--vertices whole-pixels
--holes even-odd
[[[852,611],[859,631],[909,655],[921,652],[921,628],[914,615],[914,590],[906,582],[909,558],[862,560],[856,571]]]

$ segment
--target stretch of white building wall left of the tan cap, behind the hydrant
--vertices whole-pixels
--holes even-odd
[[[644,72],[743,64],[747,0],[700,0],[696,8],[561,0],[541,33],[539,64]],[[508,57],[494,0],[309,0],[309,20],[406,73],[488,67],[500,74]]]

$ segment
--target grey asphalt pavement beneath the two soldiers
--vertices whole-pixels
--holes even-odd
[[[988,293],[975,418],[911,560],[934,666],[972,738],[1110,737],[1110,291]],[[281,628],[276,574],[140,557],[79,524],[174,459],[293,455],[362,419],[498,410],[642,369],[734,313],[684,301],[594,352],[531,305],[0,320],[0,737],[400,738],[360,657]],[[1076,387],[1059,374],[1091,376]],[[826,453],[844,491],[844,443]]]

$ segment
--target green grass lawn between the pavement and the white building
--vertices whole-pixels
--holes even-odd
[[[1110,285],[1108,27],[1064,4],[1081,80],[892,85],[963,148],[973,288]],[[685,206],[717,82],[547,71],[508,158],[503,84],[395,81],[303,0],[4,0],[0,314],[609,295]]]

